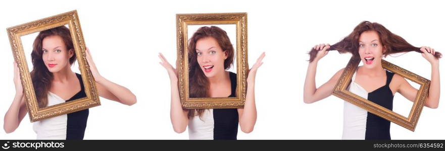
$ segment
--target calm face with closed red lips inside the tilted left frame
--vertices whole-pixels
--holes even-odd
[[[42,41],[42,59],[50,72],[59,72],[65,67],[70,67],[72,50],[67,50],[60,36],[47,36]]]

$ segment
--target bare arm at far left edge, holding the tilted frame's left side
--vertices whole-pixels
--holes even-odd
[[[19,127],[20,122],[23,120],[27,113],[25,106],[25,100],[23,98],[23,87],[20,80],[19,69],[17,63],[14,62],[14,84],[16,87],[16,95],[14,100],[5,114],[3,129],[6,133],[11,133]]]

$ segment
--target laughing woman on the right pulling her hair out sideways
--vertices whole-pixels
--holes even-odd
[[[440,92],[438,58],[441,54],[430,47],[414,47],[382,25],[367,21],[360,23],[348,37],[332,46],[329,44],[314,46],[309,53],[310,63],[304,86],[305,103],[314,103],[330,96],[343,72],[343,69],[340,69],[328,82],[319,88],[315,87],[317,62],[328,53],[328,50],[351,52],[354,56],[360,57],[363,65],[354,73],[349,91],[389,110],[392,110],[392,99],[396,92],[414,101],[418,90],[400,75],[385,70],[381,65],[382,57],[399,52],[422,53],[431,64],[431,85],[425,106],[437,108]],[[343,139],[390,139],[389,126],[389,121],[344,102]]]

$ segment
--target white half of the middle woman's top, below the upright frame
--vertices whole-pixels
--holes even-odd
[[[188,138],[213,139],[214,127],[213,109],[204,110],[201,118],[200,116],[194,116],[188,120]]]

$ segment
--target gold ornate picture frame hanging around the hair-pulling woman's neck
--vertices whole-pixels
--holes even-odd
[[[353,74],[360,64],[360,61],[361,60],[359,57],[351,57],[348,65],[344,68],[340,79],[335,85],[332,94],[379,117],[414,131],[417,121],[419,120],[420,113],[422,112],[423,106],[428,97],[430,81],[421,77],[420,75],[382,59],[382,67],[384,69],[401,75],[403,78],[411,80],[420,85],[420,89],[417,92],[416,100],[414,101],[410,114],[408,117],[405,117],[347,90],[348,86],[351,84]]]

